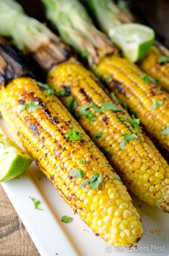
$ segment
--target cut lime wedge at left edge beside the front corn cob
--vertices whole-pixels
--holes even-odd
[[[0,134],[0,182],[14,179],[32,163],[32,159],[14,142]]]

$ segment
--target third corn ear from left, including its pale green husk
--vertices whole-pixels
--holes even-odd
[[[90,26],[93,27],[93,23],[78,1],[73,0],[71,3],[68,0],[42,1],[47,8],[47,17],[57,26],[63,39],[81,54],[87,51],[85,56],[88,58],[95,74],[102,78],[110,90],[114,90],[120,100],[127,102],[128,108],[134,109],[147,133],[153,140],[158,142],[165,154],[168,155],[168,93],[162,91],[160,86],[156,85],[155,79],[147,76],[135,64],[120,58],[120,56],[114,56],[109,53],[91,62],[93,54],[91,54],[89,45],[85,44],[82,39],[87,39],[93,44],[93,47],[97,45],[97,41],[94,40],[95,36],[90,30]],[[97,30],[95,30],[95,34],[97,34]],[[97,37],[99,37],[99,34],[97,34]],[[78,41],[78,47],[74,45],[75,39]],[[107,41],[106,36],[105,41]],[[114,47],[112,47],[112,53],[113,49]],[[98,49],[96,49],[96,52],[99,52]]]

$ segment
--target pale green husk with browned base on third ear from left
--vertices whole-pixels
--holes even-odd
[[[82,55],[89,53],[87,56],[89,64],[97,64],[106,54],[117,52],[110,40],[95,28],[86,10],[78,1],[42,1],[47,18],[57,26],[64,41]]]

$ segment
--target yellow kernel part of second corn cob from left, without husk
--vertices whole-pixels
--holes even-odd
[[[64,63],[49,72],[47,82],[55,87],[67,108],[70,99],[74,100],[72,111],[78,115],[78,122],[108,157],[127,188],[150,205],[169,211],[166,161],[139,126],[130,127],[131,118],[119,104],[113,103],[115,111],[103,110],[103,102],[110,106],[112,100],[98,79],[80,65]],[[137,139],[128,141],[122,149],[125,133],[135,133]]]

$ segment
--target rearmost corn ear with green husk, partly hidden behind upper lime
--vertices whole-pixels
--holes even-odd
[[[135,18],[128,9],[122,9],[113,0],[84,0],[97,19],[101,30],[110,35],[111,29],[122,23],[133,22]],[[111,39],[111,37],[110,37]],[[169,51],[160,43],[151,46],[147,56],[138,65],[154,77],[166,91],[169,91]]]

